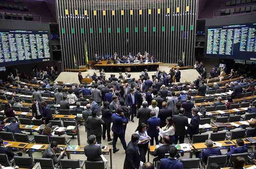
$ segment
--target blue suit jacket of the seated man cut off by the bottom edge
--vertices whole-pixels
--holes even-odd
[[[161,159],[158,169],[183,169],[183,164],[180,161],[177,161],[172,158],[163,158]]]

